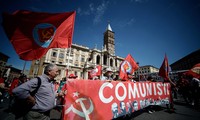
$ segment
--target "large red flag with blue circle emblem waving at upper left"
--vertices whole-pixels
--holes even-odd
[[[72,44],[75,12],[44,13],[18,10],[3,14],[3,27],[23,60],[41,58],[50,48]]]

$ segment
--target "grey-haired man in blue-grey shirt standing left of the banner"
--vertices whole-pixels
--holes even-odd
[[[37,88],[37,78],[13,89],[12,92],[17,98],[25,99],[27,103],[33,105],[31,110],[23,116],[24,120],[50,120],[50,110],[55,107],[56,98],[52,81],[58,74],[58,67],[55,64],[48,64],[44,69],[44,74],[39,76],[41,85],[35,96],[31,96],[30,92]]]

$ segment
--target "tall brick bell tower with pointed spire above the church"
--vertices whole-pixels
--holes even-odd
[[[110,24],[108,24],[106,31],[104,32],[104,47],[108,51],[109,54],[115,55],[115,38],[114,38],[114,32],[112,31],[112,28]]]

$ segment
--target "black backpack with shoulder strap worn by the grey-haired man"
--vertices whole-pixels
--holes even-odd
[[[37,93],[38,89],[41,86],[41,78],[40,77],[36,78],[38,79],[38,85],[36,89],[30,93],[30,95],[33,97],[35,96],[35,94]],[[15,118],[18,119],[26,115],[31,110],[32,107],[33,105],[28,104],[26,99],[17,99],[16,97],[14,97],[11,102],[10,110],[11,113],[15,115]]]

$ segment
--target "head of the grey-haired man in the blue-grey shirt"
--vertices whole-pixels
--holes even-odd
[[[44,74],[46,74],[47,76],[49,76],[50,79],[53,80],[59,74],[57,65],[48,64],[44,68]]]

